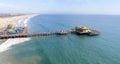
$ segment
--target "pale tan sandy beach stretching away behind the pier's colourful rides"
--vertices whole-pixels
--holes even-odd
[[[31,15],[21,15],[21,16],[14,16],[14,17],[0,17],[0,28],[6,27],[8,24],[14,24],[17,21],[26,18],[26,17],[31,17]]]

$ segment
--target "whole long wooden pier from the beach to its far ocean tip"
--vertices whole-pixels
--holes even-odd
[[[77,32],[75,29],[73,30],[60,30],[55,32],[34,32],[34,33],[28,33],[27,28],[24,27],[24,30],[22,33],[18,34],[7,34],[4,32],[3,35],[0,35],[0,39],[9,39],[9,38],[26,38],[26,37],[33,37],[33,36],[51,36],[51,35],[67,35],[69,33],[72,34],[87,34],[87,35],[98,35],[99,32],[95,30],[91,30],[90,33],[88,32]]]

